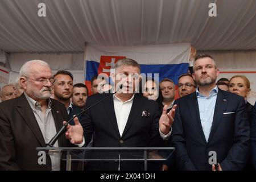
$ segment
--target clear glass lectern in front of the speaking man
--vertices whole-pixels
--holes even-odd
[[[84,162],[116,162],[118,171],[121,162],[143,163],[144,171],[148,169],[148,162],[164,162],[174,154],[174,147],[37,147],[39,152],[46,155],[59,156],[66,163],[66,170],[71,170],[73,161]],[[142,169],[142,170],[143,170]],[[121,169],[122,170],[122,169]]]

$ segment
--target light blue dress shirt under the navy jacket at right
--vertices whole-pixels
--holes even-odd
[[[214,108],[216,104],[218,88],[215,86],[211,91],[209,97],[204,96],[196,89],[196,96],[199,105],[199,113],[201,125],[204,131],[205,139],[208,141],[210,130],[212,129]]]

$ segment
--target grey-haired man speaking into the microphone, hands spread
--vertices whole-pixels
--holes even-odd
[[[150,147],[159,146],[163,139],[168,139],[176,106],[169,113],[167,105],[164,106],[160,117],[155,101],[135,93],[140,73],[140,65],[136,61],[119,60],[114,73],[110,73],[115,82],[114,92],[117,93],[88,97],[86,108],[108,98],[82,115],[85,144],[90,142],[93,133],[94,147]],[[88,169],[143,170],[143,166],[138,162],[94,162],[88,163]]]

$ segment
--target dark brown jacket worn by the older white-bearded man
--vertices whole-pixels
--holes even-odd
[[[51,101],[58,131],[63,121],[68,119],[67,109],[60,102]],[[58,142],[59,147],[68,146],[64,135],[61,135]],[[0,104],[0,147],[0,170],[51,170],[48,155],[46,165],[38,164],[36,147],[46,147],[46,143],[24,94]]]

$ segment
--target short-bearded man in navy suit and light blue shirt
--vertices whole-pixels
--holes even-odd
[[[176,101],[172,142],[180,170],[242,170],[250,150],[243,97],[216,86],[219,71],[209,55],[196,56],[196,92]],[[218,163],[215,168],[213,163]]]

